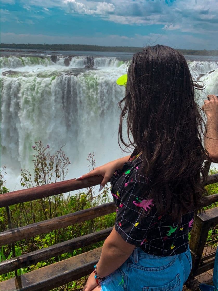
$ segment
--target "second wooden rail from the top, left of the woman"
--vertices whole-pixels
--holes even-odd
[[[26,226],[9,229],[0,233],[0,245],[17,242],[18,240],[33,237],[41,233],[49,233],[51,230],[90,220],[115,211],[115,204],[111,202]]]

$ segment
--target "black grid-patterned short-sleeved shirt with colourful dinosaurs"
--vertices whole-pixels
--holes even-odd
[[[111,177],[111,193],[117,210],[115,229],[126,242],[148,254],[165,257],[183,253],[188,247],[194,212],[182,215],[176,223],[169,215],[160,216],[153,200],[146,199],[150,188],[148,178],[141,176],[139,181],[141,162],[140,154],[134,150],[123,168]]]

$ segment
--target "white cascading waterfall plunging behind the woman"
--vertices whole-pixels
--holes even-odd
[[[68,179],[88,171],[89,152],[95,153],[96,166],[121,155],[117,103],[124,88],[116,85],[116,79],[126,72],[127,61],[86,56],[53,60],[50,56],[1,58],[1,165],[13,177],[8,184],[11,191],[21,188],[15,178],[20,168],[32,168],[35,141],[49,144],[51,153],[66,143],[63,149],[71,160]],[[89,70],[86,65],[98,68]],[[197,77],[205,74],[200,79],[205,92],[218,95],[218,64],[195,61],[189,66],[197,68]],[[205,97],[201,92],[199,105]]]

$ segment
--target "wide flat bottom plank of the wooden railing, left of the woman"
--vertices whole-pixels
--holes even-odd
[[[0,291],[48,291],[93,272],[102,247],[0,283]]]

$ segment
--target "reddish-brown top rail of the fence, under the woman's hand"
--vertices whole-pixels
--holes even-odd
[[[96,175],[84,180],[71,179],[63,182],[56,182],[53,184],[0,194],[0,207],[88,188],[100,184],[102,179],[102,175]],[[218,174],[210,175],[208,176],[208,181],[205,185],[216,182],[218,182]]]

